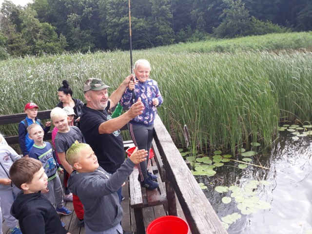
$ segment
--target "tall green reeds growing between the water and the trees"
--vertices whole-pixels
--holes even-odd
[[[276,138],[281,121],[312,121],[312,32],[180,43],[133,52],[151,62],[151,78],[164,96],[159,116],[176,145],[233,151],[252,141],[263,148]],[[219,53],[222,52],[222,53]],[[114,91],[130,74],[124,51],[42,55],[0,61],[0,115],[22,113],[33,101],[39,110],[58,103],[67,79],[74,98],[84,100],[87,78],[103,79]],[[7,136],[16,125],[0,126]]]

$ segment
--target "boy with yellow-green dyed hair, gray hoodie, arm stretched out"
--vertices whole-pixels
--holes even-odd
[[[146,156],[147,151],[135,150],[111,175],[98,165],[98,158],[88,144],[69,148],[66,159],[75,170],[69,177],[68,187],[83,204],[86,234],[122,233],[122,208],[117,190]]]

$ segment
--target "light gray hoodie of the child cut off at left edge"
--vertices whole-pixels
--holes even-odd
[[[9,170],[14,161],[20,159],[20,156],[8,145],[0,144],[0,178],[10,178]],[[0,184],[0,190],[11,189],[13,184]]]

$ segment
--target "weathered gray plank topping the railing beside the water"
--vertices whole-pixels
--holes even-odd
[[[186,166],[159,116],[155,119],[154,139],[166,169],[167,178],[175,189],[177,198],[193,234],[226,234],[194,176]]]

